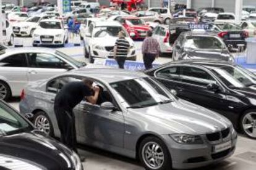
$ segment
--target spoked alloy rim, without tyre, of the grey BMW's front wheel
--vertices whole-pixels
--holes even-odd
[[[164,152],[156,142],[148,142],[143,146],[142,158],[151,169],[159,169],[164,163]]]

